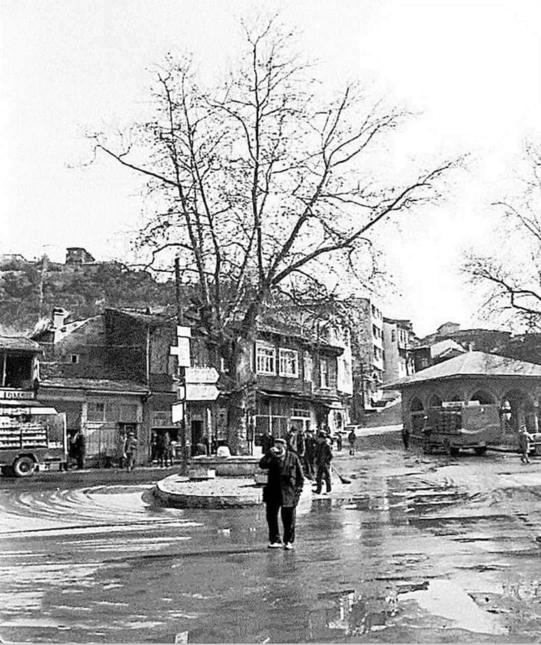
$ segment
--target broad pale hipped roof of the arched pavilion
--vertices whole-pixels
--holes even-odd
[[[389,383],[384,386],[384,389],[398,390],[413,383],[464,376],[536,377],[541,379],[541,365],[517,361],[497,354],[466,352],[454,359],[438,363],[394,383]]]

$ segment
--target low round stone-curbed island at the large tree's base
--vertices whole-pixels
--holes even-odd
[[[152,492],[163,504],[176,508],[250,508],[263,503],[263,487],[246,477],[190,481],[170,475],[157,482]],[[305,484],[300,502],[306,499],[311,499],[311,485]]]

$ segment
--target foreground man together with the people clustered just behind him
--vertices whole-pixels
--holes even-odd
[[[304,486],[304,477],[315,478],[315,493],[331,492],[331,437],[326,430],[291,429],[287,439],[275,439],[270,432],[262,436],[263,456],[259,467],[268,470],[263,491],[266,520],[269,529],[269,548],[293,549],[295,542],[296,508]],[[284,525],[284,541],[280,539],[278,514]]]

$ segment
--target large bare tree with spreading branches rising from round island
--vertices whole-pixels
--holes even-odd
[[[205,89],[190,62],[169,57],[155,77],[155,119],[129,141],[93,136],[96,152],[148,178],[157,209],[137,244],[155,270],[170,271],[178,253],[181,279],[195,288],[202,328],[230,366],[233,451],[261,313],[275,299],[366,280],[376,268],[371,229],[435,200],[459,163],[389,185],[373,153],[409,114],[370,103],[353,84],[322,100],[293,34],[274,19],[242,27],[246,51],[222,86]]]

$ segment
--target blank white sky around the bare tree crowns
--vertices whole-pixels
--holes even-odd
[[[66,246],[84,246],[124,258],[141,186],[106,161],[68,168],[88,158],[82,132],[141,114],[146,69],[168,50],[194,52],[205,70],[224,65],[238,18],[257,7],[302,30],[330,83],[360,78],[422,113],[400,134],[404,159],[472,153],[446,204],[379,238],[397,284],[385,315],[411,319],[419,335],[448,320],[478,325],[460,252],[487,246],[487,204],[502,197],[524,137],[541,134],[539,0],[2,0],[0,253],[63,261]]]

